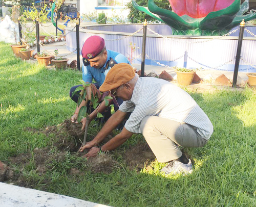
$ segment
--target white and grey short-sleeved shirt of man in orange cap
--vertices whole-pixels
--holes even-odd
[[[141,133],[140,123],[146,116],[159,116],[193,125],[206,140],[214,131],[207,115],[187,92],[155,77],[140,77],[132,98],[123,101],[119,110],[132,112],[125,128],[133,133]]]

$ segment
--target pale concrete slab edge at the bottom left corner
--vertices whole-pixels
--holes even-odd
[[[0,183],[1,207],[106,207],[65,195]]]

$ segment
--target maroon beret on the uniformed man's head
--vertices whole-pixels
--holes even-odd
[[[100,54],[105,46],[105,41],[100,36],[91,36],[87,38],[82,46],[82,57],[85,59],[95,58]]]

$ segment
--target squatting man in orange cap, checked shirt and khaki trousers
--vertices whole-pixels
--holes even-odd
[[[115,65],[106,75],[100,91],[111,91],[123,99],[119,110],[104,124],[97,136],[80,148],[91,148],[85,157],[113,150],[134,133],[141,133],[158,162],[168,163],[165,174],[191,173],[191,161],[181,152],[182,147],[202,147],[213,132],[213,126],[196,101],[178,86],[156,79],[138,77],[132,66]],[[98,144],[132,112],[123,130],[100,148]]]

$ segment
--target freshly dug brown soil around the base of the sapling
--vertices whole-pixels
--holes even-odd
[[[53,150],[53,147],[35,148],[32,152],[18,154],[17,157],[9,158],[9,168],[14,174],[8,178],[8,183],[14,183],[18,186],[33,188],[37,185],[38,180],[28,179],[23,173],[24,169],[31,166],[33,173],[39,176],[46,175],[49,170],[54,170],[53,162],[65,162],[68,153],[74,157],[81,157],[84,153],[78,153],[81,146],[79,140],[83,139],[84,132],[81,131],[81,124],[72,123],[70,120],[65,120],[57,126],[47,126],[45,129],[36,130],[34,128],[26,128],[27,131],[35,134],[45,134],[53,139],[53,147],[58,150]],[[108,136],[103,143],[110,140],[112,136]],[[117,149],[118,150],[118,149]],[[54,152],[53,152],[54,151]],[[130,170],[144,168],[150,166],[151,161],[155,160],[155,156],[150,147],[146,143],[138,143],[130,147],[125,152],[119,151],[123,156],[124,164]],[[93,173],[109,174],[121,165],[115,160],[113,152],[99,153],[97,157],[89,160],[84,159],[86,170]],[[73,162],[73,161],[72,161]],[[80,176],[83,170],[72,167],[67,171],[70,176]],[[46,176],[47,177],[47,176]],[[47,186],[49,180],[44,180],[43,184]]]

